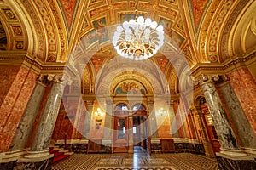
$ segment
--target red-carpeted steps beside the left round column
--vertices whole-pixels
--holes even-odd
[[[66,159],[67,157],[71,156],[73,152],[68,152],[67,150],[64,150],[63,148],[58,148],[55,146],[49,147],[49,153],[54,154],[53,163],[57,161],[61,161],[63,159]]]

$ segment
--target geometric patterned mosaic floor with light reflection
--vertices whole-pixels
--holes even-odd
[[[177,154],[73,154],[52,170],[217,170],[214,159],[190,153]]]

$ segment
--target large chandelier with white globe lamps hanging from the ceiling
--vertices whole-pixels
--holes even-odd
[[[122,57],[143,60],[152,57],[164,44],[164,28],[143,16],[125,21],[117,26],[112,40],[114,48]]]

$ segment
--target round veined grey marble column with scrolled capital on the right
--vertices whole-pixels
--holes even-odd
[[[207,100],[209,111],[212,115],[214,127],[218,134],[218,140],[221,145],[220,153],[230,156],[245,156],[246,154],[239,149],[236,136],[226,117],[224,106],[218,96],[215,88],[215,81],[219,80],[218,75],[201,75],[196,82],[201,84],[201,88]]]

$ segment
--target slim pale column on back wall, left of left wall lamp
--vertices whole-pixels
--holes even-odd
[[[83,134],[86,139],[90,139],[90,122],[91,122],[91,116],[92,116],[93,103],[94,103],[93,101],[87,102],[87,111],[85,113],[84,131],[83,131]]]

